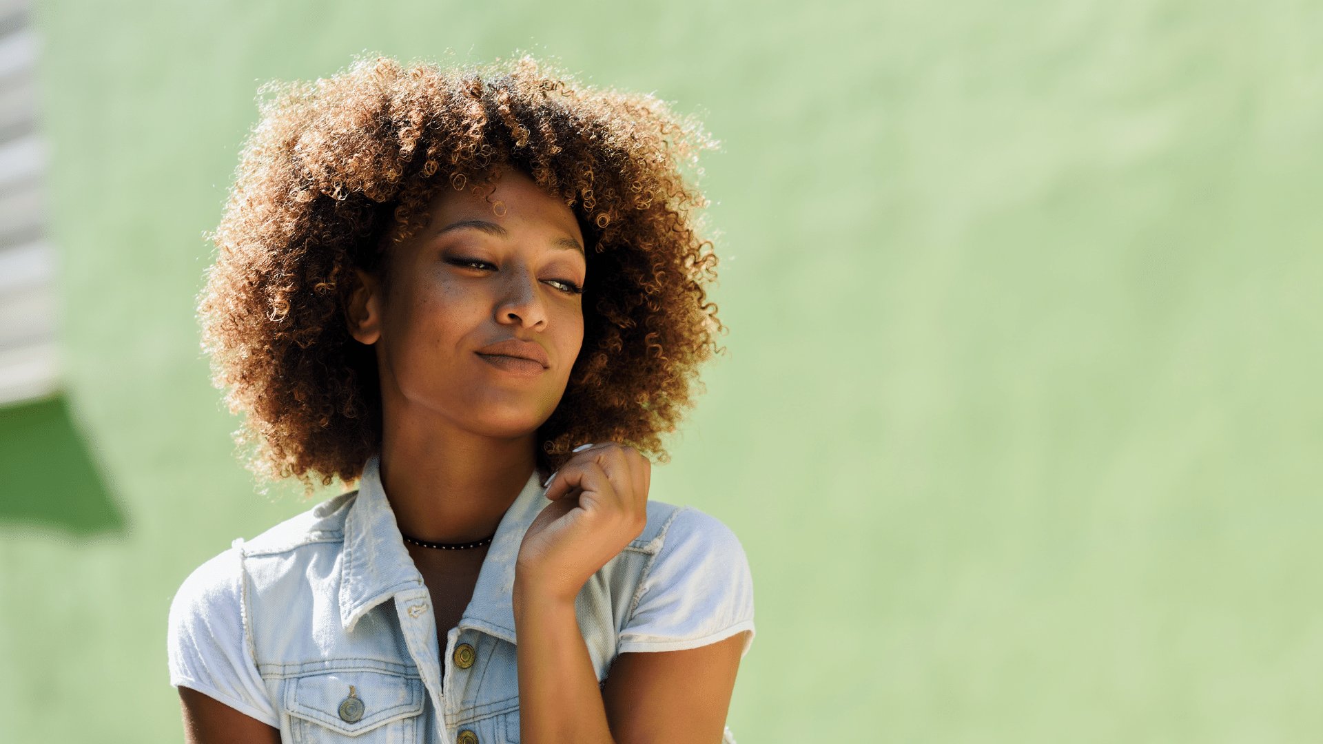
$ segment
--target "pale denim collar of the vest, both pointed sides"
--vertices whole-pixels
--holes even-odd
[[[459,628],[474,628],[515,642],[515,561],[528,527],[550,503],[542,498],[545,492],[533,470],[496,527]],[[380,454],[368,458],[363,467],[359,495],[344,520],[340,559],[340,622],[345,630],[352,631],[368,610],[397,593],[423,586],[381,486]]]

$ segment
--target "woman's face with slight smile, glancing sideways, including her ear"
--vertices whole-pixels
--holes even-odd
[[[556,409],[583,343],[576,289],[587,262],[574,213],[512,168],[491,203],[447,188],[429,212],[385,258],[389,295],[360,273],[349,306],[355,338],[377,347],[382,404],[527,436]],[[491,348],[501,342],[509,348]]]

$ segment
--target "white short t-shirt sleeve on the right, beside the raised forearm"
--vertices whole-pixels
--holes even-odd
[[[753,576],[740,539],[720,519],[681,507],[639,586],[618,653],[696,649],[749,631]]]

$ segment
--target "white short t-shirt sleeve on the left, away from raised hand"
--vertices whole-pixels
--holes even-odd
[[[243,633],[239,560],[238,548],[225,551],[194,569],[175,593],[167,634],[169,683],[279,727]]]

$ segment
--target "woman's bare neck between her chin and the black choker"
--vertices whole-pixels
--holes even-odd
[[[533,474],[536,433],[492,438],[435,414],[385,413],[381,486],[400,531],[433,543],[493,534]]]

